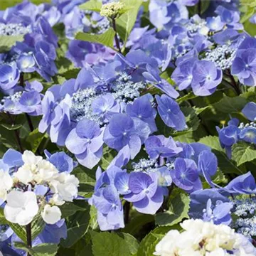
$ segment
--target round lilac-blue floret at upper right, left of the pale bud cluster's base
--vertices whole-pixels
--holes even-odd
[[[223,73],[215,63],[208,60],[199,60],[193,66],[192,90],[195,95],[207,96],[215,92],[220,84]]]

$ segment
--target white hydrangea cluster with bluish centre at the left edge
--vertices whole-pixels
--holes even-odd
[[[24,151],[22,160],[23,166],[12,176],[0,170],[0,198],[6,201],[6,220],[28,225],[41,210],[46,223],[57,223],[61,218],[58,206],[78,196],[78,178],[60,173],[50,161],[31,151]]]

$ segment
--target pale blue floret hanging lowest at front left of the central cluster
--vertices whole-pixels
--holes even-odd
[[[103,130],[94,121],[82,119],[65,140],[68,150],[75,154],[80,164],[89,169],[102,157]]]

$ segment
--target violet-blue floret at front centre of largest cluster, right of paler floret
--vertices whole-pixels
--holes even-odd
[[[136,117],[114,114],[104,133],[104,142],[112,149],[120,150],[129,145],[131,158],[139,153],[142,144],[151,133],[149,125]]]

